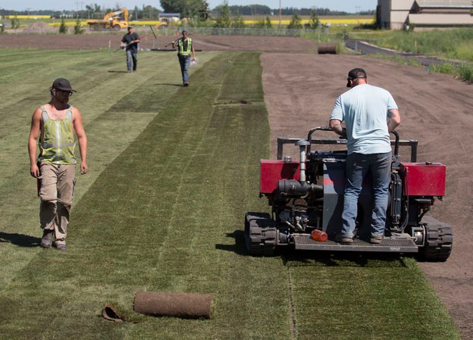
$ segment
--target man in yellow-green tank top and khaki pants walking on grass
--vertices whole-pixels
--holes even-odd
[[[41,198],[39,219],[43,238],[41,247],[54,245],[67,250],[66,235],[74,194],[75,136],[80,149],[80,173],[87,168],[87,137],[82,126],[80,111],[69,105],[75,92],[67,79],[58,78],[50,88],[51,100],[38,107],[31,118],[28,152],[31,176],[38,179],[38,196]],[[39,139],[39,155],[36,145]]]

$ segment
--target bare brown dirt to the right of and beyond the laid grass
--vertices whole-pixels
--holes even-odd
[[[1,34],[0,47],[116,49],[119,34],[63,36]],[[147,36],[143,49],[164,49],[176,37]],[[434,217],[453,226],[453,252],[444,263],[419,263],[455,320],[463,339],[473,339],[473,96],[472,85],[423,68],[367,56],[316,54],[316,43],[302,38],[193,36],[196,49],[261,51],[263,89],[271,127],[270,153],[277,137],[306,137],[311,127],[327,125],[338,95],[347,91],[347,73],[361,67],[368,82],[393,94],[402,118],[401,139],[419,140],[419,162],[446,164],[444,201]],[[266,53],[267,52],[267,53]],[[245,98],[242,98],[245,99]],[[325,132],[331,137],[332,132]],[[335,134],[334,134],[335,136]],[[401,160],[409,161],[407,150]],[[393,282],[395,284],[395,282]],[[416,289],[416,287],[407,287]],[[415,325],[412,325],[415,327]]]

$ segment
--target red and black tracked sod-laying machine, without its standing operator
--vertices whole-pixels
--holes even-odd
[[[271,214],[247,212],[245,242],[251,255],[272,256],[278,248],[418,253],[427,261],[446,261],[453,243],[452,228],[426,215],[435,199],[445,194],[446,167],[435,162],[416,162],[416,140],[395,140],[391,165],[388,210],[384,239],[372,244],[370,219],[372,188],[365,178],[358,199],[356,237],[350,245],[335,242],[342,226],[347,150],[312,150],[312,146],[346,145],[347,139],[312,138],[314,132],[332,131],[314,127],[307,139],[278,138],[277,160],[261,160],[260,197],[265,196]],[[283,158],[284,144],[299,148],[300,161]],[[400,162],[399,148],[410,148],[410,161]],[[314,240],[323,231],[327,240]]]

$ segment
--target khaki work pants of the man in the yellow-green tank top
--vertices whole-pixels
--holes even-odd
[[[54,244],[65,245],[75,186],[75,164],[41,162],[39,221],[54,231]]]

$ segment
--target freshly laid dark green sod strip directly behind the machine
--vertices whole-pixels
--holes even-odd
[[[298,339],[460,339],[413,258],[321,254],[286,260]]]

